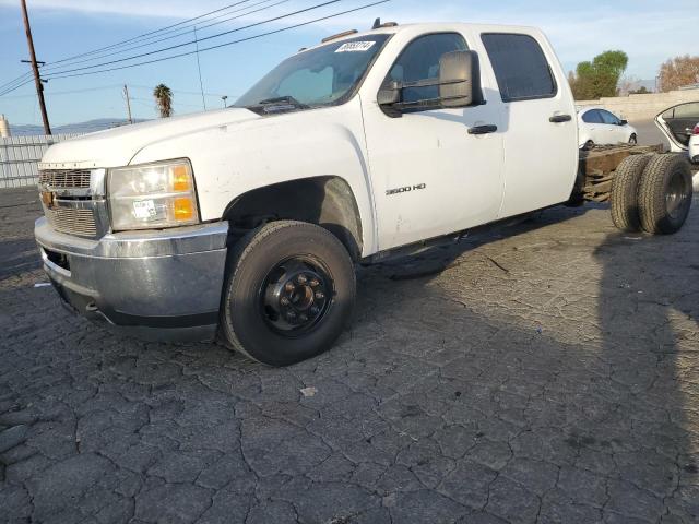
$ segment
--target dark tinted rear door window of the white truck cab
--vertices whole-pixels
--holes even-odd
[[[556,80],[535,38],[514,33],[484,33],[481,39],[493,64],[502,102],[556,96]]]

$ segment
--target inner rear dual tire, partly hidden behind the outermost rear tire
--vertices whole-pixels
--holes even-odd
[[[643,169],[653,155],[631,155],[621,160],[614,171],[609,195],[612,222],[623,231],[640,231],[638,187]]]

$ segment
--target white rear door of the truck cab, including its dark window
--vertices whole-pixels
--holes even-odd
[[[505,198],[499,216],[568,200],[578,169],[576,108],[542,34],[483,33],[505,106]]]

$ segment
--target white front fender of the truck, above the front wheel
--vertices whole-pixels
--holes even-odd
[[[342,106],[269,116],[156,142],[137,153],[131,164],[189,158],[203,221],[220,219],[233,200],[253,189],[340,177],[356,200],[366,257],[377,249],[366,151],[355,96]]]

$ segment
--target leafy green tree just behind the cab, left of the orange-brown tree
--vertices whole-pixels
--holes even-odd
[[[590,61],[580,62],[576,72],[568,76],[577,100],[616,96],[617,85],[628,66],[629,57],[624,51],[604,51]]]

